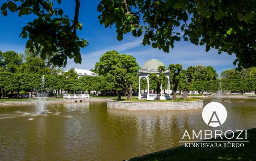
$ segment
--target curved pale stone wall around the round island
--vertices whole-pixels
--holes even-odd
[[[108,100],[107,106],[125,110],[190,110],[203,107],[203,100],[189,102],[128,102]]]

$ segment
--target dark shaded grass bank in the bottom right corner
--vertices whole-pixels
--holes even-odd
[[[223,131],[224,133],[224,131]],[[240,133],[240,132],[239,132]],[[231,134],[232,136],[233,134]],[[148,154],[134,158],[136,161],[255,161],[256,160],[256,129],[247,130],[247,139],[236,139],[238,133],[235,133],[233,139],[225,137],[217,139],[208,139],[207,141],[249,141],[243,142],[244,147],[178,147],[175,149],[167,149],[165,151]],[[229,137],[231,137],[229,135]],[[245,138],[245,131],[240,135]],[[206,142],[207,143],[207,142]],[[213,143],[213,142],[208,142]],[[228,142],[226,142],[228,143]],[[232,142],[231,142],[232,143]],[[235,142],[236,144],[237,142]],[[241,142],[240,142],[241,143]],[[184,143],[185,144],[185,143]]]

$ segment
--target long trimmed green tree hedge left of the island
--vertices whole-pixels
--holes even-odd
[[[6,93],[33,92],[41,90],[42,76],[39,74],[16,74],[0,72],[1,97]],[[80,77],[68,79],[65,75],[45,75],[44,89],[65,91],[113,90],[104,77]],[[56,93],[57,94],[57,93]]]

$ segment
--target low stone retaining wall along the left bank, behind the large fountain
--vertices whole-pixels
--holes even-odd
[[[55,99],[55,100],[46,100],[50,103],[56,102],[80,102],[80,101],[89,101],[89,98],[72,98],[72,99]],[[0,102],[0,105],[14,105],[14,104],[35,104],[38,100],[29,100],[29,101],[13,101],[13,102]]]

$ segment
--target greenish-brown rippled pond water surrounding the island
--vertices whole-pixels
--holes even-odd
[[[204,98],[204,106],[214,101]],[[185,132],[256,127],[256,99],[225,99],[227,120],[210,127],[202,110],[136,111],[106,101],[0,106],[0,160],[124,160],[184,145]]]

